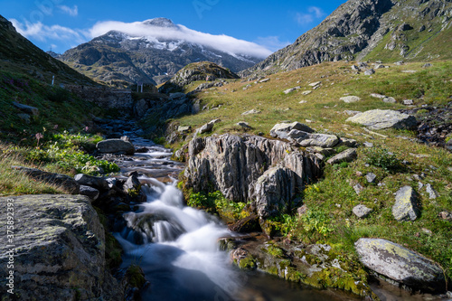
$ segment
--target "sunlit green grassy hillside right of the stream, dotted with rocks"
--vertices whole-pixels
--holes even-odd
[[[270,137],[269,130],[276,123],[299,121],[320,133],[353,138],[360,144],[371,142],[372,148],[359,147],[358,159],[353,163],[327,165],[324,178],[303,193],[308,214],[299,218],[294,212],[282,217],[276,221],[280,223],[278,227],[292,240],[329,243],[352,260],[356,259],[353,243],[360,237],[392,240],[438,261],[451,277],[451,222],[440,219],[438,213],[452,212],[452,154],[446,149],[416,142],[415,132],[369,133],[361,126],[346,123],[349,116],[344,110],[407,108],[401,104],[403,99],[413,99],[416,107],[446,107],[452,100],[452,62],[435,61],[430,68],[423,68],[420,62],[391,64],[391,68],[379,69],[371,77],[355,74],[350,68],[353,63],[328,62],[273,74],[264,83],[230,80],[224,87],[197,94],[202,101],[201,108],[210,109],[173,122],[194,130],[214,118],[221,118],[209,134],[214,135],[242,134],[244,130],[236,123],[244,120],[252,127],[248,133]],[[318,89],[309,86],[315,81],[321,81]],[[186,91],[197,84],[199,82],[193,83]],[[283,93],[297,86],[300,89]],[[311,93],[304,95],[306,90]],[[372,98],[371,93],[391,96],[397,103],[382,102]],[[344,95],[355,95],[362,100],[344,103],[340,100]],[[448,108],[450,111],[450,106]],[[260,113],[241,115],[250,109]],[[427,110],[419,110],[416,117],[422,120],[427,115]],[[400,164],[403,161],[405,165]],[[377,175],[380,185],[367,183],[365,175],[371,172]],[[425,187],[419,189],[418,175],[422,178],[420,182],[430,183],[437,190],[438,198],[429,199]],[[363,185],[360,194],[353,190],[356,183]],[[416,221],[398,222],[392,217],[393,194],[404,185],[411,185],[420,193],[422,214]],[[369,218],[360,220],[354,216],[352,209],[357,204],[373,209]]]

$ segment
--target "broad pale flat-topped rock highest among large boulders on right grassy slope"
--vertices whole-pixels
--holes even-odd
[[[417,125],[414,116],[403,114],[391,109],[373,109],[361,114],[357,114],[346,120],[347,122],[358,123],[370,129],[396,128],[412,129]]]

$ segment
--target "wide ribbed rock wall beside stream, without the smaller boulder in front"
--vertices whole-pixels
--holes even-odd
[[[255,185],[271,166],[286,167],[297,174],[291,177],[297,183],[280,184],[296,186],[299,191],[321,174],[320,161],[315,155],[300,152],[287,142],[261,136],[225,134],[195,138],[189,144],[188,155],[185,187],[193,188],[194,192],[221,191],[235,202],[255,200]]]

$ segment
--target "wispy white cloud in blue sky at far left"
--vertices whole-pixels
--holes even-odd
[[[25,24],[17,21],[16,19],[11,19],[11,23],[14,25],[18,33],[21,33],[26,38],[33,38],[38,41],[45,42],[47,40],[57,40],[57,41],[75,41],[75,42],[86,42],[86,34],[80,30],[73,30],[68,27],[63,27],[61,25],[44,25],[41,22],[30,23],[28,21]]]

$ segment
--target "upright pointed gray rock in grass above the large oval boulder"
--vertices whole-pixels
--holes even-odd
[[[419,216],[419,196],[411,186],[404,186],[396,193],[392,215],[397,221],[414,221]]]

